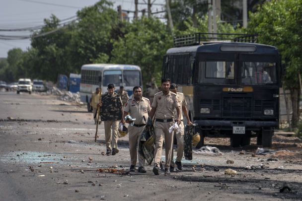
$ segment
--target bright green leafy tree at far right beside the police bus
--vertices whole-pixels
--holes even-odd
[[[276,46],[287,66],[284,86],[290,89],[292,127],[299,121],[299,77],[302,72],[302,0],[272,0],[250,13],[249,33],[258,34],[258,42]]]

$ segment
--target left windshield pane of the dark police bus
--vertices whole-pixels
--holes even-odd
[[[234,62],[199,62],[198,83],[233,84]]]

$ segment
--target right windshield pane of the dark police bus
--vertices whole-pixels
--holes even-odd
[[[243,62],[243,84],[275,84],[277,83],[276,63]]]

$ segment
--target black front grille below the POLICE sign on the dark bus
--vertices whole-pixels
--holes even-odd
[[[223,117],[251,117],[251,97],[223,97]]]

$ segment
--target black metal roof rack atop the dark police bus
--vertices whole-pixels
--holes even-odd
[[[230,33],[194,33],[174,37],[174,47],[200,45],[202,43],[217,43],[219,41],[256,43],[257,35]]]

